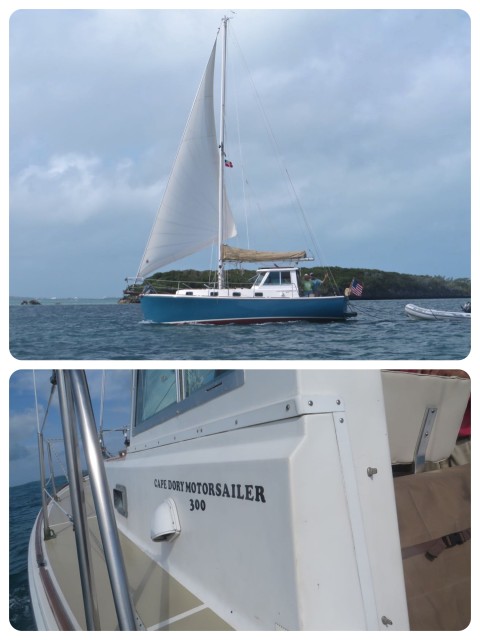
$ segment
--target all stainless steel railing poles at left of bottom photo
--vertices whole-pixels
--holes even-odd
[[[50,399],[41,426],[37,414],[44,538],[49,539],[55,537],[55,533],[49,524],[47,498],[53,499],[55,504],[57,498],[50,442],[48,443],[48,461],[50,465],[50,481],[53,486],[53,495],[47,491],[43,428],[45,426],[54,390],[55,388],[58,388],[67,466],[66,475],[70,485],[72,507],[72,515],[66,515],[74,524],[87,629],[99,630],[100,617],[93,579],[91,546],[88,533],[87,516],[85,512],[85,499],[83,495],[84,478],[80,464],[79,435],[82,440],[83,451],[87,462],[95,511],[110,578],[112,596],[115,603],[118,626],[122,631],[135,631],[139,626],[136,624],[136,615],[129,594],[125,564],[120,547],[120,539],[116,526],[109,486],[103,466],[105,454],[105,449],[101,445],[101,441],[103,442],[103,436],[99,437],[97,432],[85,372],[67,370],[55,371],[51,382],[52,387]],[[121,430],[123,431],[123,429]]]

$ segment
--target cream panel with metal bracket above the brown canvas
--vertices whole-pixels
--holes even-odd
[[[382,371],[392,464],[415,462],[428,410],[427,462],[452,453],[470,397],[470,380],[457,376]]]

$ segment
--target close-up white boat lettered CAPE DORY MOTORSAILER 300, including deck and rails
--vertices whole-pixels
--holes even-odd
[[[106,460],[84,372],[53,384],[70,482],[31,534],[39,630],[468,625],[470,465],[429,466],[455,447],[468,379],[141,370]]]

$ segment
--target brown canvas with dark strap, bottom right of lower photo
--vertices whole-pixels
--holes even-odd
[[[434,560],[427,559],[425,546],[431,542],[434,548],[437,541],[438,547],[443,536],[469,530],[470,465],[401,476],[394,484],[410,627],[465,629],[471,541],[442,550]]]

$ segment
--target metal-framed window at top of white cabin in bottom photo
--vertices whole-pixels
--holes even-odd
[[[242,384],[243,371],[229,369],[138,371],[133,435]]]

